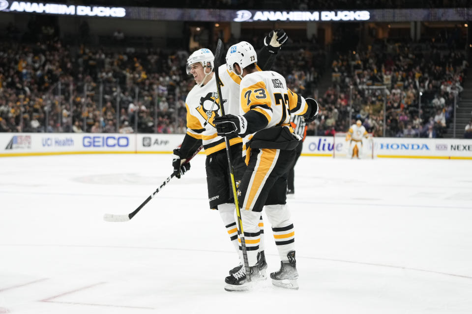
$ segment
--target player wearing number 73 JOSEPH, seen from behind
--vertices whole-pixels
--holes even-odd
[[[290,125],[290,114],[314,120],[318,104],[313,99],[287,89],[285,78],[273,71],[257,71],[257,55],[247,42],[230,47],[226,55],[228,69],[242,77],[239,115],[216,117],[218,135],[243,137],[243,155],[247,168],[237,188],[246,242],[249,274],[242,267],[226,277],[226,290],[245,290],[249,278],[260,278],[257,252],[258,226],[265,206],[272,225],[281,267],[270,274],[272,283],[298,288],[295,262],[295,231],[286,205],[287,173],[295,159],[295,147],[301,140]]]

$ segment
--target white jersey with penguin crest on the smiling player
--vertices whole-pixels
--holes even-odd
[[[187,107],[187,134],[201,139],[205,154],[210,155],[225,149],[225,139],[216,134],[213,119],[221,115],[220,105],[223,103],[225,114],[239,113],[239,82],[241,79],[228,72],[226,65],[218,68],[221,84],[221,101],[218,99],[216,89],[216,76],[200,87],[195,85],[185,99]],[[230,145],[240,143],[241,138],[230,140]]]

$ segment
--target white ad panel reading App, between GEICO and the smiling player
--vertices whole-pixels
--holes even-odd
[[[185,134],[137,134],[137,149],[145,152],[172,152]]]

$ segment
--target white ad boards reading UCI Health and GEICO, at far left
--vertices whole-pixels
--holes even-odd
[[[136,135],[114,133],[3,133],[4,154],[48,152],[135,151]]]

